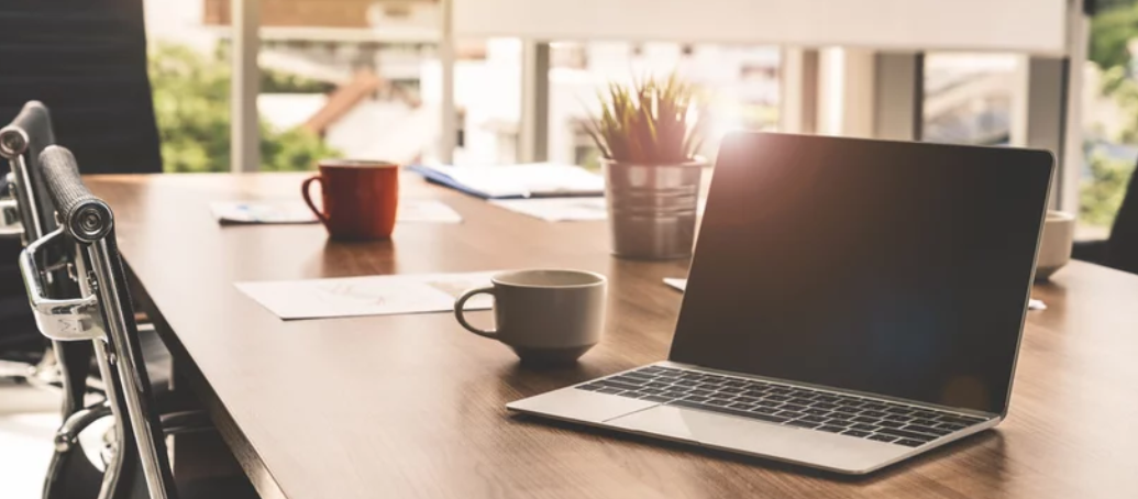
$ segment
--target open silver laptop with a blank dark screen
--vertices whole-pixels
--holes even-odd
[[[725,139],[666,361],[506,407],[865,474],[1007,415],[1048,151]]]

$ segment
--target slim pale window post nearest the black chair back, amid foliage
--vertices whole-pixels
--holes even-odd
[[[230,86],[230,169],[261,169],[261,130],[258,128],[257,94],[261,93],[261,66],[257,52],[261,43],[261,2],[232,1],[232,80]]]

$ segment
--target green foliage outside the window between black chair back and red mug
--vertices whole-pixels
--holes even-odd
[[[211,58],[187,47],[159,43],[149,56],[165,171],[228,172],[230,70],[224,52]],[[295,77],[270,80],[278,90],[313,86]],[[261,122],[262,171],[311,169],[320,158],[336,156],[336,150],[304,130],[274,131]]]

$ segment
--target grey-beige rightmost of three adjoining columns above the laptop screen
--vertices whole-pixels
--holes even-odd
[[[924,55],[879,52],[874,64],[874,134],[921,140],[924,123]]]

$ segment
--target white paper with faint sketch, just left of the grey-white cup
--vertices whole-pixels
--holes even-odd
[[[284,321],[451,311],[463,291],[490,284],[494,272],[406,274],[304,281],[239,282],[237,289]],[[490,308],[478,296],[468,310]]]

